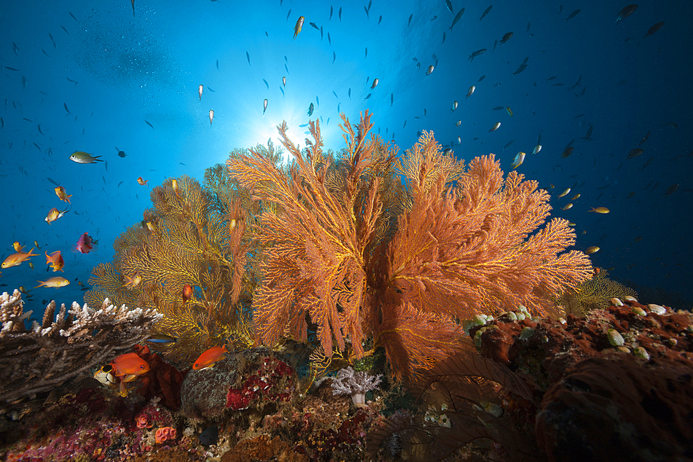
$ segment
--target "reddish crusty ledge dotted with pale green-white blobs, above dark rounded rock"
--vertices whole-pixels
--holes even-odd
[[[642,310],[642,316],[633,312]],[[663,308],[663,307],[662,307]],[[489,323],[478,337],[483,356],[509,366],[511,371],[532,375],[540,390],[560,380],[566,368],[589,357],[617,355],[644,348],[650,357],[671,359],[688,364],[693,361],[693,315],[690,312],[666,308],[651,310],[636,301],[624,301],[623,306],[590,311],[587,317],[569,314],[565,324],[549,317],[515,321],[504,314]],[[531,328],[525,338],[523,330]],[[470,330],[475,337],[477,330]],[[609,330],[624,339],[622,346],[613,346]],[[613,334],[612,334],[613,337]],[[620,349],[617,349],[620,348]]]

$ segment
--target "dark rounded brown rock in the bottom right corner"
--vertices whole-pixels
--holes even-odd
[[[545,393],[536,439],[549,461],[691,460],[693,362],[586,359]]]

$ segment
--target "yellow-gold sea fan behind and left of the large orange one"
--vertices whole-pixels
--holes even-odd
[[[248,255],[258,252],[246,233],[252,201],[214,178],[209,172],[213,193],[185,176],[154,188],[154,208],[145,211],[142,226],[116,240],[114,262],[94,269],[89,283],[98,290],[85,296],[137,301],[164,313],[154,332],[177,337],[159,347],[171,359],[191,361],[227,339],[249,346],[254,337],[249,309],[257,282]],[[141,282],[125,287],[133,276]]]

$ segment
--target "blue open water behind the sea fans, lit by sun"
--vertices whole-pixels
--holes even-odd
[[[442,0],[374,0],[366,12],[367,1],[137,0],[133,17],[127,0],[3,1],[0,256],[14,253],[15,240],[27,249],[36,240],[42,256],[31,260],[34,269],[3,269],[1,288],[26,287],[27,308],[37,312],[50,299],[81,302],[77,282],[86,285],[91,267],[112,260],[114,239],[142,219],[152,186],[183,174],[202,179],[234,148],[277,143],[283,120],[304,145],[299,125],[313,103],[312,118],[335,150],[344,144],[337,109],[352,123],[369,109],[374,131],[402,150],[432,130],[457,157],[493,152],[506,172],[518,151],[527,152],[518,170],[550,190],[555,215],[576,223],[577,249],[601,248],[595,266],[613,267],[618,281],[693,299],[693,2],[641,1],[614,24],[627,4],[453,0],[450,12]],[[306,21],[293,39],[299,15]],[[663,27],[643,37],[659,21]],[[507,32],[514,35],[493,50]],[[525,57],[527,68],[514,75]],[[453,100],[459,107],[450,112]],[[593,140],[581,139],[590,126]],[[644,153],[626,160],[647,132]],[[533,156],[540,134],[543,149]],[[572,139],[574,152],[561,159]],[[106,162],[70,161],[78,150]],[[140,176],[148,186],[137,184]],[[69,213],[52,224],[46,213],[67,204],[48,178],[73,195]],[[611,213],[588,213],[597,206]],[[85,231],[98,251],[71,253]],[[32,290],[62,275],[45,271],[43,253],[55,250],[71,285]]]

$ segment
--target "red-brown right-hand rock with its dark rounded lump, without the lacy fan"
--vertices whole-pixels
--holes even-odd
[[[549,461],[692,460],[693,315],[612,303],[565,320],[508,313],[470,334],[534,385],[538,407],[509,396],[505,410]]]

